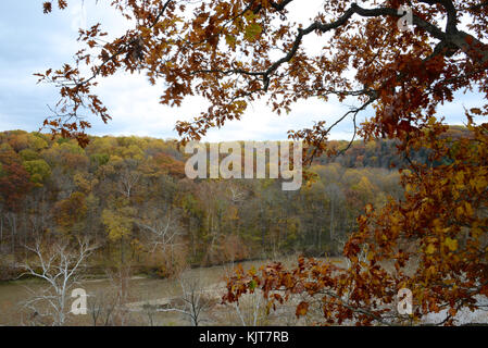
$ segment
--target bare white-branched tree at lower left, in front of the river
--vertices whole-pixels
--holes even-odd
[[[33,246],[25,246],[34,259],[26,259],[21,266],[22,275],[30,275],[48,283],[40,291],[32,291],[33,297],[24,302],[32,311],[33,324],[63,325],[71,308],[66,306],[70,290],[79,284],[86,259],[96,249],[88,239],[78,239],[72,247],[65,239],[47,243],[36,238]]]

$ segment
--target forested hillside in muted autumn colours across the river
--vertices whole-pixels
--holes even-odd
[[[316,159],[317,176],[298,191],[276,179],[188,179],[186,156],[171,140],[92,137],[82,149],[12,130],[0,144],[3,278],[15,274],[25,245],[49,234],[96,239],[95,268],[130,264],[162,276],[188,264],[336,254],[366,203],[402,194],[390,165],[404,159],[391,141],[356,141],[346,154]]]

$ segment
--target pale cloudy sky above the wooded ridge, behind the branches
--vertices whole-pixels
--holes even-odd
[[[308,2],[303,7],[303,1]],[[39,129],[49,114],[48,104],[57,102],[57,91],[49,85],[37,85],[36,72],[70,63],[78,50],[77,28],[91,26],[102,20],[103,28],[111,35],[124,32],[127,23],[104,2],[108,0],[71,0],[67,11],[42,14],[41,0],[2,0],[0,12],[0,130]],[[298,1],[292,9],[297,21],[308,18],[318,10],[322,0]],[[306,44],[306,42],[305,42]],[[313,49],[313,38],[308,42]],[[162,90],[149,85],[143,75],[117,74],[101,82],[97,89],[109,107],[113,120],[103,124],[89,119],[93,135],[139,135],[158,138],[177,138],[176,120],[191,120],[205,108],[198,98],[185,100],[182,108],[168,108],[158,103]],[[440,113],[450,124],[463,123],[463,107],[475,107],[479,97],[459,95],[455,103],[443,105]],[[262,102],[254,103],[241,122],[227,123],[221,129],[209,133],[205,140],[277,140],[285,139],[287,130],[310,127],[314,121],[334,120],[348,105],[338,102],[309,100],[299,102],[292,112],[277,116]],[[372,110],[363,113],[363,117]],[[348,139],[352,135],[351,123],[336,128],[331,138]]]

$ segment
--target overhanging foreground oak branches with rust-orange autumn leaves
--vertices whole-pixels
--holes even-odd
[[[398,141],[410,163],[402,172],[403,199],[379,210],[366,206],[359,228],[346,244],[348,269],[300,259],[296,269],[270,265],[261,274],[239,273],[229,279],[226,300],[261,289],[272,300],[290,294],[320,296],[325,323],[352,320],[359,324],[401,322],[392,312],[396,294],[410,288],[416,302],[413,319],[448,309],[442,323],[456,311],[475,308],[476,296],[488,295],[487,270],[487,36],[488,5],[479,0],[385,0],[360,5],[327,0],[309,25],[288,18],[293,0],[246,1],[120,1],[112,5],[137,24],[125,35],[105,41],[98,24],[82,29],[84,48],[75,64],[39,74],[60,87],[61,100],[45,126],[75,137],[85,146],[89,123],[82,110],[110,120],[91,89],[97,79],[117,71],[143,71],[149,80],[165,83],[161,102],[180,105],[191,95],[203,96],[210,108],[193,122],[176,125],[183,140],[200,139],[208,129],[239,120],[261,98],[277,112],[299,99],[356,98],[336,123],[318,122],[290,130],[310,145],[312,158],[326,151],[334,126],[352,117],[365,140]],[[59,1],[60,9],[66,7]],[[401,32],[400,5],[413,11],[413,30]],[[45,3],[45,12],[52,10]],[[465,28],[460,20],[467,18]],[[322,40],[310,54],[305,37]],[[77,67],[86,64],[90,74]],[[353,72],[353,74],[349,74]],[[456,92],[475,89],[478,108],[466,110],[471,136],[447,135],[438,105]],[[361,125],[358,114],[373,107],[375,114]],[[411,160],[428,149],[429,161]],[[359,258],[364,252],[365,259]],[[281,296],[276,291],[285,291]],[[308,302],[298,306],[303,315]]]

